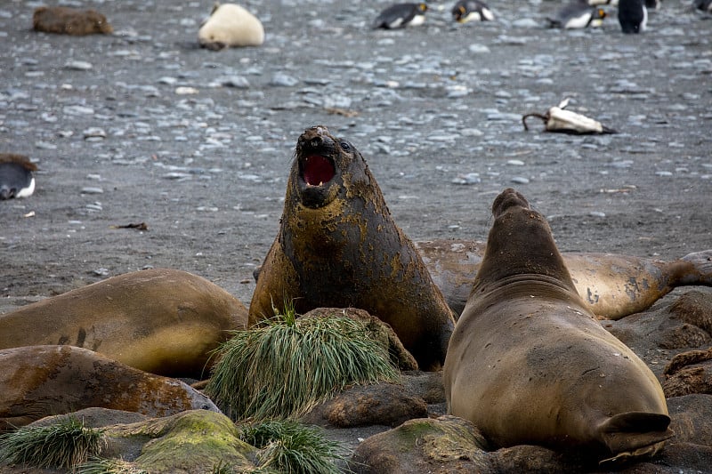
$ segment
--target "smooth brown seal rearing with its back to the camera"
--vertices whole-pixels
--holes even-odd
[[[655,375],[595,320],[548,223],[521,194],[506,189],[492,213],[443,370],[448,413],[493,446],[604,461],[655,454],[673,435]]]

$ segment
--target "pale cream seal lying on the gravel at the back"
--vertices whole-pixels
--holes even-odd
[[[238,4],[215,3],[210,17],[198,30],[201,47],[220,50],[264,43],[262,22]]]

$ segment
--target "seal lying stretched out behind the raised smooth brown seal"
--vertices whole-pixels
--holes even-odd
[[[416,242],[435,285],[459,315],[486,244],[440,239]],[[712,250],[660,261],[615,253],[562,253],[578,294],[601,319],[644,311],[678,286],[712,286]]]

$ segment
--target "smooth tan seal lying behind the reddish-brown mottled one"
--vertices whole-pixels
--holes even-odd
[[[0,316],[0,349],[69,344],[153,374],[200,379],[247,308],[203,277],[147,269],[86,285]]]

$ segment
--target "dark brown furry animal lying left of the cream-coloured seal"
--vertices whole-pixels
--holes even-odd
[[[77,10],[68,6],[40,6],[32,15],[32,28],[44,33],[85,36],[114,32],[100,12]]]

